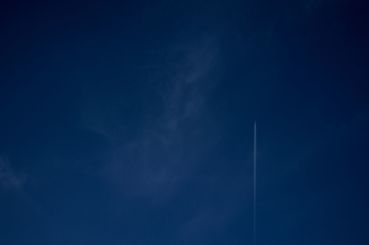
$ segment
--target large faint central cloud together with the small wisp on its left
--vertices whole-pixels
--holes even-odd
[[[125,142],[117,139],[122,136],[124,122],[114,128],[107,126],[112,124],[112,118],[119,118],[118,106],[100,108],[98,115],[93,108],[84,108],[92,113],[83,115],[83,122],[84,127],[101,132],[114,142],[100,174],[125,194],[157,200],[192,178],[201,154],[193,149],[208,145],[199,133],[206,129],[194,122],[206,111],[207,96],[215,86],[209,74],[218,63],[218,44],[217,38],[206,36],[169,45],[165,52],[156,51],[155,65],[140,69],[151,74],[150,89],[158,103],[153,111],[142,112],[144,122],[137,126],[133,139]]]

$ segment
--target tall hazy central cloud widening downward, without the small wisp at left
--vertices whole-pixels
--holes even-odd
[[[147,123],[135,140],[119,147],[115,160],[107,165],[118,186],[133,195],[166,196],[189,178],[196,161],[185,156],[185,141],[212,85],[206,76],[216,62],[217,45],[214,39],[204,38],[167,52],[167,61],[158,65],[155,75],[162,113],[145,115]],[[182,58],[172,61],[172,56]]]

